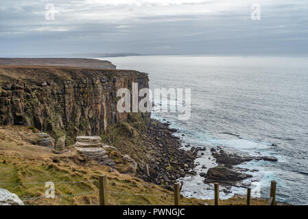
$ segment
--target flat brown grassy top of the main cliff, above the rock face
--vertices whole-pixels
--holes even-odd
[[[0,65],[0,84],[12,81],[28,81],[32,83],[45,81],[78,80],[85,77],[106,77],[109,81],[115,77],[147,77],[147,74],[136,70],[95,69],[64,66],[27,66]]]

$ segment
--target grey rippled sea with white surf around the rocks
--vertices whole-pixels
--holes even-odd
[[[117,69],[148,73],[152,89],[191,90],[188,119],[152,113],[152,118],[169,121],[180,130],[183,149],[189,149],[187,145],[206,149],[196,159],[198,174],[179,179],[184,182],[184,196],[214,197],[213,185],[203,183],[199,174],[217,166],[210,149],[220,146],[278,159],[239,165],[254,170],[248,170],[253,177],[244,181],[252,187],[252,196],[268,198],[270,181],[275,180],[277,201],[308,204],[308,57],[145,55],[99,60],[108,60]],[[222,188],[220,198],[246,191]]]

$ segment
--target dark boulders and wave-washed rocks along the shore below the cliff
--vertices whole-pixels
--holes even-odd
[[[165,188],[172,190],[173,184],[177,179],[188,175],[196,175],[194,170],[198,166],[195,160],[201,157],[206,151],[205,148],[195,147],[187,144],[187,151],[182,148],[182,140],[175,136],[178,129],[170,128],[169,122],[162,122],[151,119],[145,133],[144,144],[149,147],[147,164],[144,168],[137,170],[137,177],[144,181],[165,185]],[[256,172],[258,170],[249,170],[239,168],[237,165],[252,160],[266,160],[276,162],[276,157],[250,156],[244,153],[228,151],[217,146],[211,149],[213,161],[217,166],[209,168],[206,172],[200,172],[200,177],[204,177],[204,183],[220,183],[224,186],[224,192],[230,193],[232,186],[248,188],[250,183],[243,183],[244,179],[252,178],[247,172]],[[202,169],[206,167],[202,166]],[[184,185],[185,186],[185,185]]]

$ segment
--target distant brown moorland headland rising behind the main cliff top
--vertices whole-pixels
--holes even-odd
[[[0,65],[71,66],[99,69],[116,68],[109,61],[88,58],[0,58]]]

